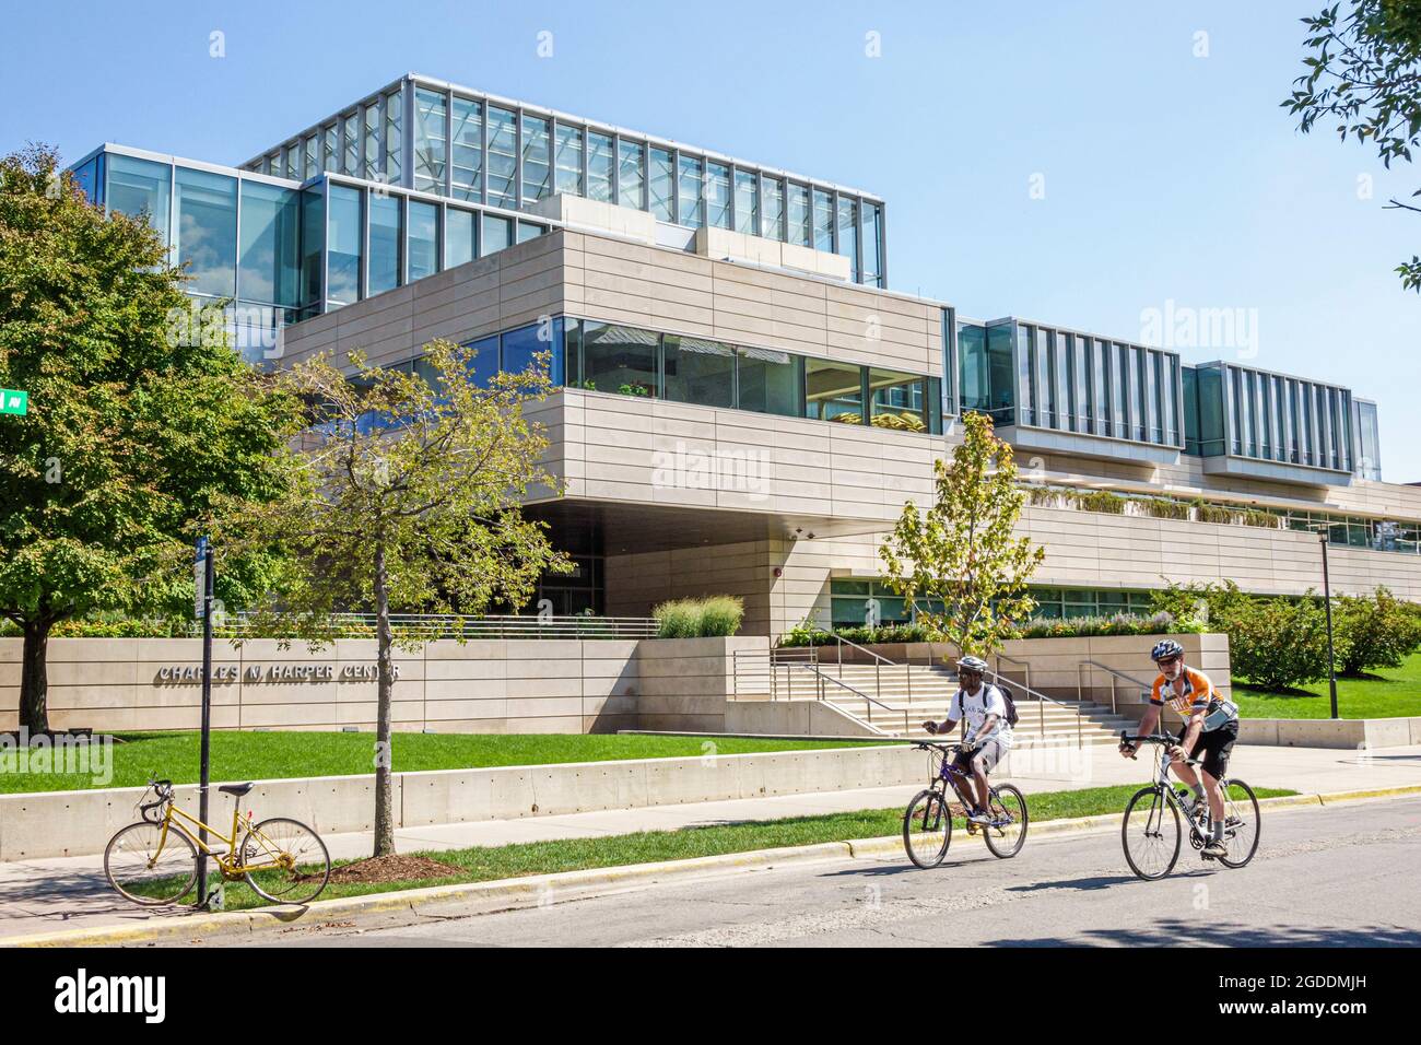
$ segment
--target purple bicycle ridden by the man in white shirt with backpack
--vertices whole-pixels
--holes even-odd
[[[963,745],[917,741],[914,746],[928,752],[932,769],[926,789],[914,796],[902,815],[902,845],[908,850],[908,859],[926,870],[942,863],[948,846],[952,845],[952,808],[948,789],[951,788],[968,809],[976,805],[976,799],[972,796],[972,779],[952,762]],[[968,833],[980,830],[992,856],[1010,860],[1026,845],[1026,827],[1030,823],[1026,796],[1010,783],[990,785],[988,796],[990,822],[969,823]]]

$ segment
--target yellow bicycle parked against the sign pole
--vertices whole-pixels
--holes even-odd
[[[230,836],[179,809],[172,781],[149,781],[148,786],[155,800],[142,803],[138,810],[142,819],[119,830],[104,850],[104,874],[125,899],[145,907],[182,900],[198,883],[199,849],[212,857],[226,881],[244,880],[271,903],[311,903],[325,889],[331,854],[320,835],[284,816],[261,823],[253,823],[250,812],[242,816],[240,800],[256,785],[217,788],[233,798]],[[200,830],[207,832],[216,849],[199,837]]]

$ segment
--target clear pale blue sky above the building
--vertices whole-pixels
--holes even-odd
[[[877,192],[891,287],[963,316],[1138,338],[1167,303],[1241,310],[1226,343],[1174,347],[1377,400],[1384,476],[1421,481],[1421,297],[1391,272],[1421,218],[1383,209],[1421,171],[1279,108],[1320,7],[27,4],[0,149],[237,164],[419,71]]]

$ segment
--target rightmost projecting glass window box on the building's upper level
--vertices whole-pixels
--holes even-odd
[[[1187,368],[1184,395],[1194,422],[1188,452],[1353,471],[1354,411],[1346,388],[1212,363]],[[1371,418],[1374,424],[1376,407]]]

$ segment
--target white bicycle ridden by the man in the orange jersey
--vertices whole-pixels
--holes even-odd
[[[1121,732],[1120,742],[1160,746],[1154,782],[1131,796],[1120,832],[1130,870],[1145,881],[1157,881],[1172,872],[1179,860],[1184,843],[1181,822],[1189,825],[1189,845],[1195,850],[1202,850],[1209,843],[1209,803],[1208,799],[1194,802],[1187,788],[1175,791],[1169,785],[1169,748],[1178,744],[1174,736],[1161,734],[1130,736]],[[1199,765],[1198,759],[1187,762],[1191,766]],[[1239,779],[1219,781],[1219,788],[1223,791],[1223,845],[1229,854],[1218,860],[1225,867],[1242,867],[1258,852],[1260,829],[1258,798],[1253,789]]]

